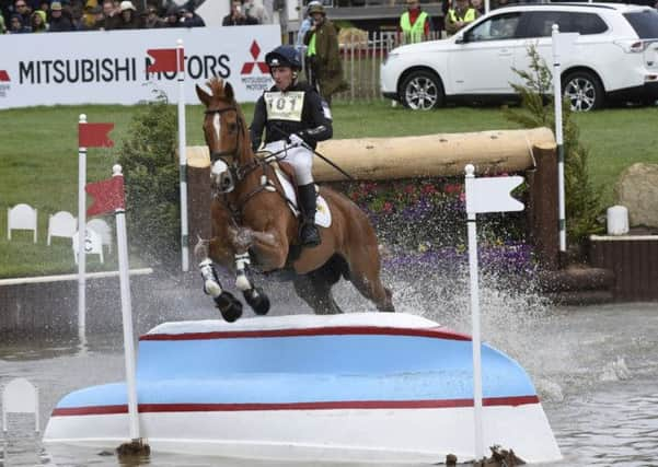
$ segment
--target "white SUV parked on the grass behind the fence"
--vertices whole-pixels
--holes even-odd
[[[381,66],[384,96],[414,109],[446,101],[515,98],[513,72],[528,70],[536,46],[552,68],[551,31],[579,33],[562,57],[562,85],[575,110],[608,100],[658,98],[658,12],[613,3],[545,3],[494,10],[454,36],[393,49]]]

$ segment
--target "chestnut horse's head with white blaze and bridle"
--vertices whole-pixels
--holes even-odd
[[[210,79],[207,85],[210,93],[197,85],[196,94],[206,106],[204,136],[212,162],[210,176],[215,187],[226,192],[233,189],[235,168],[247,164],[253,155],[233,87],[220,78]]]

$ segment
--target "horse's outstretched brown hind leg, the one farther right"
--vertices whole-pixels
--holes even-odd
[[[380,259],[377,242],[360,245],[350,252],[349,280],[380,312],[395,312],[391,290],[380,278]]]

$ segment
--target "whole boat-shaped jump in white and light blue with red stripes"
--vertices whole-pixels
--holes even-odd
[[[137,399],[153,451],[305,462],[475,457],[469,336],[407,314],[166,323],[141,336]],[[487,446],[561,458],[524,370],[483,345]],[[69,394],[48,444],[114,448],[128,433],[124,383]]]

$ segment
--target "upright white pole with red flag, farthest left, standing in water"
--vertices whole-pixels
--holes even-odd
[[[79,124],[86,125],[86,115],[80,114]],[[78,130],[80,131],[80,130]],[[86,255],[86,148],[78,148],[78,337],[85,341],[85,267]]]

